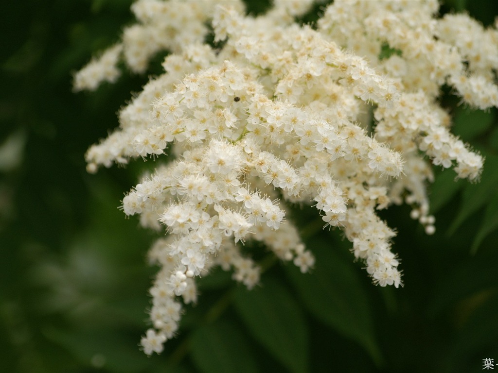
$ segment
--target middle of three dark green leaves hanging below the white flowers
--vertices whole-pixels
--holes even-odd
[[[239,287],[235,307],[253,337],[291,372],[308,371],[308,330],[301,308],[278,280],[262,287]]]

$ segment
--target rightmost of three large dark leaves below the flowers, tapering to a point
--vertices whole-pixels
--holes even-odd
[[[316,257],[311,274],[287,268],[299,297],[320,321],[363,346],[373,361],[382,357],[373,333],[372,315],[367,296],[351,262],[346,262],[329,242],[315,238],[307,243]]]

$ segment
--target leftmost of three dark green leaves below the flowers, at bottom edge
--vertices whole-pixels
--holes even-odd
[[[249,341],[240,327],[229,321],[196,329],[192,335],[192,359],[201,372],[254,372],[257,366],[250,354]]]

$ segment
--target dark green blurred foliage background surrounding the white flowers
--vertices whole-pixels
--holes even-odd
[[[487,158],[481,183],[436,172],[437,232],[407,207],[383,215],[398,230],[405,287],[375,287],[340,231],[293,207],[317,257],[311,275],[267,259],[248,292],[214,271],[200,281],[178,337],[147,358],[146,251],[156,235],[117,209],[141,161],[90,176],[87,147],[117,126],[116,111],[147,81],[125,73],[95,93],[71,92],[71,72],[133,21],[129,0],[2,3],[0,56],[0,371],[478,372],[498,363],[497,110],[443,99],[454,132]],[[249,11],[265,9],[249,1]],[[317,6],[320,9],[320,5]],[[497,3],[447,0],[485,24]],[[302,22],[312,22],[311,16]]]

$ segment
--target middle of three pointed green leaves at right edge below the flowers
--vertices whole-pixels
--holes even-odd
[[[449,235],[452,235],[468,217],[483,207],[489,201],[491,195],[496,192],[498,184],[497,169],[498,156],[490,155],[486,157],[481,182],[468,184],[464,188],[460,212],[448,229]]]

